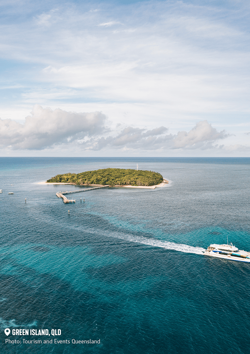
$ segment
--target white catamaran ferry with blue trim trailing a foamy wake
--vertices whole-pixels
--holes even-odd
[[[231,261],[250,262],[250,252],[239,250],[233,246],[232,242],[230,245],[210,245],[204,255],[230,259]]]

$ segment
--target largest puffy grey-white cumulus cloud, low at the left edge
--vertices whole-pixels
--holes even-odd
[[[54,144],[96,136],[107,131],[101,112],[75,113],[35,105],[25,123],[0,119],[0,144],[17,149],[41,150]]]

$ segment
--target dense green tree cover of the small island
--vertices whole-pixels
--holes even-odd
[[[56,175],[47,182],[72,183],[77,185],[101,184],[101,185],[135,185],[151,186],[163,181],[158,172],[125,169],[103,169],[86,171],[81,173],[64,173]]]

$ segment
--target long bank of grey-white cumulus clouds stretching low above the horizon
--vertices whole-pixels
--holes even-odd
[[[75,113],[51,110],[35,105],[24,124],[0,119],[0,144],[14,150],[42,150],[50,147],[78,146],[82,150],[166,150],[209,149],[228,135],[217,131],[207,120],[200,121],[189,131],[168,133],[165,126],[154,129],[118,125],[107,127],[107,117],[101,112]],[[223,148],[223,145],[220,145]]]

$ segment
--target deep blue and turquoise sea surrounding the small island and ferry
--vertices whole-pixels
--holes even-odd
[[[74,194],[72,205],[56,192],[80,187],[38,183],[137,163],[170,183]],[[0,168],[2,353],[249,353],[250,264],[201,250],[227,237],[250,249],[250,158],[0,158]],[[70,344],[23,343],[55,338]]]

